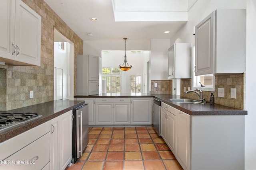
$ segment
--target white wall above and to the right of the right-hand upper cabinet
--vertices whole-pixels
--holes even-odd
[[[256,1],[255,0],[198,0],[188,12],[188,22],[170,39],[170,43],[195,43],[193,27],[216,9],[246,9],[246,79],[245,109],[248,111],[245,120],[245,170],[256,170],[256,114],[255,114],[255,39],[256,39]]]

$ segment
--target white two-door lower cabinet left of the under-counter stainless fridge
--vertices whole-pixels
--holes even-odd
[[[50,170],[64,170],[72,159],[72,110],[50,123]]]

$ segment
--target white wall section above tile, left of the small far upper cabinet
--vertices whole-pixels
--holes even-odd
[[[151,80],[168,80],[168,49],[170,39],[152,39],[150,68]]]

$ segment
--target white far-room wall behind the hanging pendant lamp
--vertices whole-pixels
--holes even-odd
[[[126,51],[126,60],[132,69],[121,71],[121,93],[130,93],[130,75],[140,75],[142,81],[142,92],[144,87],[144,73],[146,62],[149,60],[149,51],[142,53],[131,53]],[[124,63],[124,51],[112,51],[111,53],[102,53],[102,67],[119,67]]]

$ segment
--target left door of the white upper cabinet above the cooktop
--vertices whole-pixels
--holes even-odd
[[[0,1],[0,57],[7,59],[14,59],[15,45],[14,43],[14,14],[15,6],[14,0],[2,0]],[[4,59],[0,59],[4,61]]]

